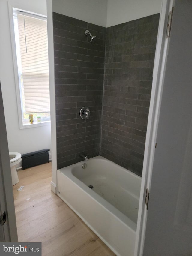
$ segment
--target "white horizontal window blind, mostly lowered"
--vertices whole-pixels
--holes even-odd
[[[17,13],[25,113],[50,112],[47,21]]]

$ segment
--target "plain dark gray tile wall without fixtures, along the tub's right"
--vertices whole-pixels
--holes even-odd
[[[101,155],[142,175],[159,14],[107,28]]]

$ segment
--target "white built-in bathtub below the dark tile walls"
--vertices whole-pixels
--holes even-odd
[[[57,170],[57,184],[58,196],[116,255],[134,255],[140,176],[96,156]]]

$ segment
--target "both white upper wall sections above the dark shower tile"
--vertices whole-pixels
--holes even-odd
[[[110,27],[161,11],[161,0],[52,0],[52,11]]]

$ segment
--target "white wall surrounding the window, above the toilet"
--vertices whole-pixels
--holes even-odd
[[[51,148],[50,125],[19,129],[13,57],[10,41],[8,2],[15,8],[46,15],[46,0],[0,1],[0,80],[9,151],[21,154]]]

